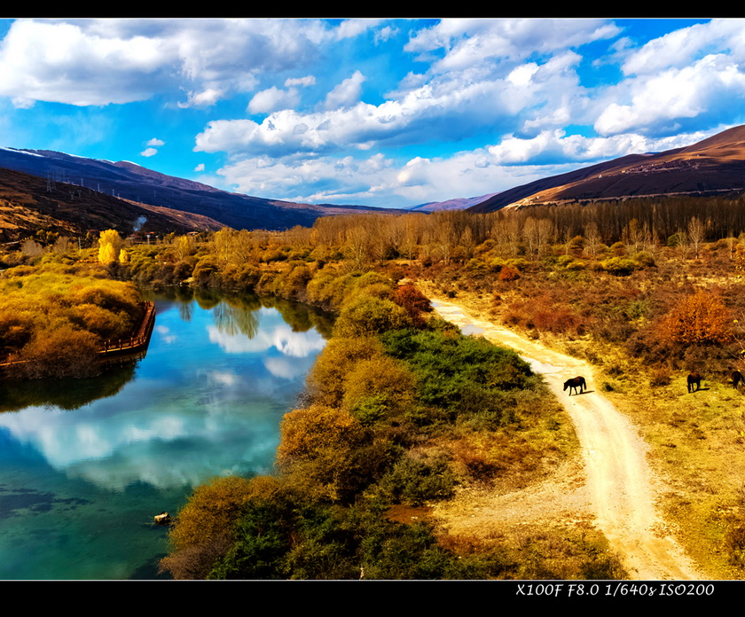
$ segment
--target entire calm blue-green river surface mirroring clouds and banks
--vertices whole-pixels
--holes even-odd
[[[325,345],[286,301],[153,297],[144,359],[0,389],[0,579],[149,579],[153,515],[216,475],[271,473],[282,415]]]

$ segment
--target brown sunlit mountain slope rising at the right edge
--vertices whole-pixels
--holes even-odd
[[[745,191],[745,126],[684,148],[630,154],[502,191],[468,208],[494,212],[599,199]]]

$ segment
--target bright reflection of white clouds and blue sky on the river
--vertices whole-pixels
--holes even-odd
[[[21,414],[0,415],[0,427],[55,470],[102,488],[266,473],[278,414],[291,407],[325,339],[308,327],[298,332],[297,323],[286,324],[257,296],[208,301],[211,309],[196,316],[186,311],[184,320],[183,306],[191,303],[161,305],[137,379],[129,367],[105,379],[58,381],[56,393],[51,385],[26,382],[35,396],[25,397],[16,384],[16,400],[32,404]],[[307,315],[309,309],[294,311]]]

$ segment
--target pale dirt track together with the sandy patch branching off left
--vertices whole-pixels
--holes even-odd
[[[501,326],[469,316],[447,301],[433,301],[435,310],[466,333],[482,334],[514,348],[569,412],[582,448],[582,460],[565,465],[553,480],[508,495],[481,496],[464,512],[458,525],[501,520],[592,520],[608,538],[635,580],[703,580],[686,558],[655,508],[660,480],[647,465],[647,445],[628,418],[595,388],[590,364],[545,348]],[[563,391],[567,379],[582,375],[583,394]],[[451,507],[462,507],[453,504]],[[451,517],[447,517],[451,519]]]

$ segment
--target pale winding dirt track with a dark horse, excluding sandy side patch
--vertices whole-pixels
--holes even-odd
[[[465,332],[514,348],[541,373],[564,404],[574,423],[584,458],[595,523],[618,552],[635,580],[703,580],[669,535],[655,509],[653,476],[647,465],[647,445],[628,418],[595,390],[590,364],[563,355],[490,322],[468,316],[446,301],[433,301],[444,319]],[[475,330],[474,330],[475,328]],[[563,384],[578,375],[587,380],[583,394],[569,396]]]

